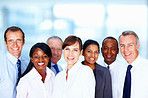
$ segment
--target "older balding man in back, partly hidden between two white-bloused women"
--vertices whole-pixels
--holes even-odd
[[[62,71],[62,67],[57,62],[61,59],[63,41],[58,36],[52,36],[47,39],[47,44],[52,51],[51,70],[57,75]]]

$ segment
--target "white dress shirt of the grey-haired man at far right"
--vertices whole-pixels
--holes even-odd
[[[133,66],[131,68],[131,98],[148,98],[148,60],[138,56],[131,65]],[[121,85],[119,89],[122,90],[121,97],[125,76],[126,71],[124,73],[124,79],[120,80]]]

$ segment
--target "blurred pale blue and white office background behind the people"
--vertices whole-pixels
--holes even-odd
[[[133,30],[140,38],[140,54],[148,58],[148,0],[0,0],[0,51],[4,53],[4,31],[19,26],[25,32],[22,55],[36,42],[53,35],[63,40],[79,36],[84,42],[95,39],[102,46],[106,36]],[[99,55],[99,60],[101,58]],[[122,59],[121,55],[118,56]],[[61,60],[63,62],[63,58]]]

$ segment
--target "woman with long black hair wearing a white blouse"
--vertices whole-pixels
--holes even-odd
[[[55,75],[49,69],[51,49],[37,43],[30,50],[30,62],[17,86],[17,98],[50,98]]]

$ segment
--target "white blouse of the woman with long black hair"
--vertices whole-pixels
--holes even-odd
[[[35,68],[22,77],[17,86],[16,98],[51,98],[55,75],[48,67],[46,73],[44,83]]]

